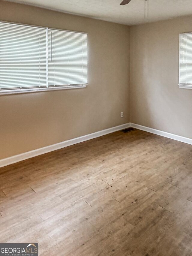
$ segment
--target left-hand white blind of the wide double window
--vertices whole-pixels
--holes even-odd
[[[0,23],[0,88],[46,86],[46,29]]]

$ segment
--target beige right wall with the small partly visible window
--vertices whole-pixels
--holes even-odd
[[[179,89],[179,33],[192,17],[131,27],[130,120],[192,138],[192,90]]]

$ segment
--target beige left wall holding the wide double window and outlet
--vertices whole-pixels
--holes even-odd
[[[128,26],[4,1],[0,20],[88,33],[87,88],[0,96],[0,159],[129,122]]]

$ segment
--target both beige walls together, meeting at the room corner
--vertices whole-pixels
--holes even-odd
[[[192,138],[192,90],[178,86],[192,17],[132,26],[131,46],[128,26],[28,5],[0,1],[0,20],[88,33],[87,88],[0,96],[0,159],[127,122]]]

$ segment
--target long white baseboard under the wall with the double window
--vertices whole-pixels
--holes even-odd
[[[86,140],[91,140],[91,139],[94,139],[94,138],[97,138],[97,137],[100,137],[100,136],[103,136],[103,135],[106,135],[106,134],[109,134],[109,133],[112,133],[115,131],[120,131],[120,130],[128,128],[128,127],[130,127],[130,123],[118,125],[118,126],[108,128],[108,129],[105,129],[102,131],[97,131],[97,132],[94,132],[94,133],[91,133],[88,135],[84,135],[81,137],[77,137],[77,138],[74,138],[71,140],[66,140],[66,141],[63,141],[60,143],[46,146],[46,147],[43,147],[40,149],[35,149],[35,150],[29,151],[26,153],[22,153],[19,155],[14,155],[14,156],[11,156],[8,158],[4,158],[4,159],[0,160],[0,167],[7,166],[9,164],[14,164],[14,163],[20,162],[22,160],[29,159],[29,158],[32,158],[32,157],[35,157],[38,155],[42,155],[42,154],[45,154],[45,153],[48,153],[48,152],[51,152],[51,151],[54,151],[57,149],[62,149],[64,147],[68,147],[68,146],[71,146],[71,145],[74,145],[76,143],[80,143],[80,142],[83,142]]]

